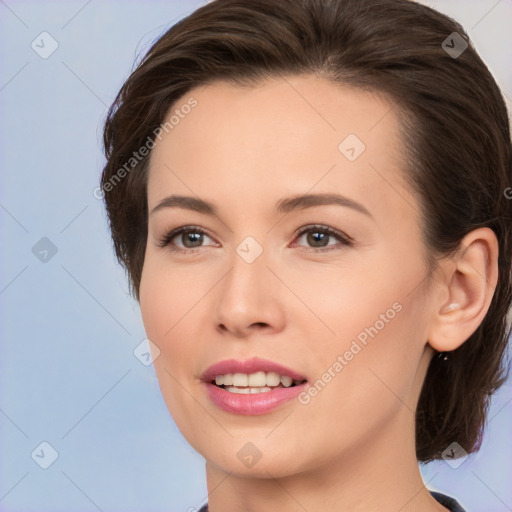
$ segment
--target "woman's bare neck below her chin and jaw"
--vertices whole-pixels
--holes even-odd
[[[207,462],[209,511],[446,512],[423,482],[414,446],[414,415],[402,407],[386,429],[369,432],[328,465],[293,474],[260,468],[255,478]]]

